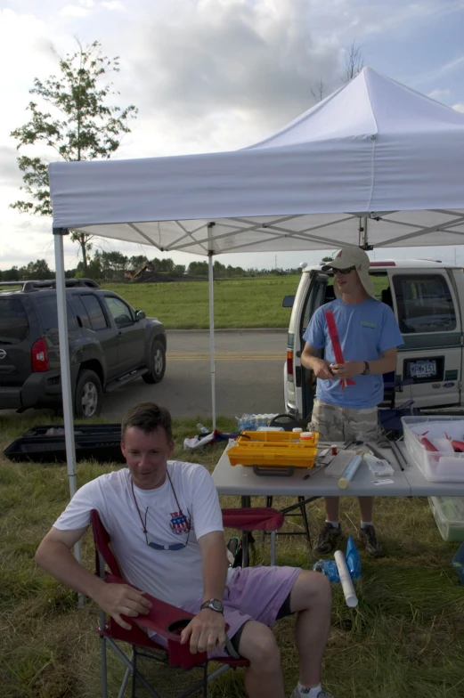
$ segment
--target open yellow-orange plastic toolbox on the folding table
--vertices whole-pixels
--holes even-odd
[[[313,467],[319,434],[300,439],[293,432],[242,432],[227,450],[231,466]]]

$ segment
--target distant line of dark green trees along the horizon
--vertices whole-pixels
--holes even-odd
[[[87,269],[84,271],[84,264],[79,262],[75,269],[65,272],[67,279],[90,278],[97,281],[130,281],[132,275],[142,269],[143,265],[149,265],[146,273],[155,272],[166,274],[172,278],[199,278],[208,277],[208,261],[191,262],[185,264],[175,264],[167,257],[166,259],[149,259],[145,255],[135,255],[128,257],[121,252],[103,252],[95,250],[94,256],[87,261]],[[213,265],[215,279],[231,279],[240,277],[255,277],[276,274],[297,274],[299,269],[243,269],[241,266],[222,264],[217,261]],[[132,272],[132,273],[131,273]],[[45,280],[53,279],[54,272],[45,259],[37,259],[36,262],[29,262],[25,266],[12,266],[11,269],[0,270],[0,281],[18,280]]]

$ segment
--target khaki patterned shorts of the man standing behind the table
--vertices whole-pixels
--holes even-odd
[[[321,441],[376,441],[380,434],[378,408],[355,410],[314,400],[308,430],[319,432]]]

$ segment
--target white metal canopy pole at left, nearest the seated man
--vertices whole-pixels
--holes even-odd
[[[71,370],[68,345],[68,312],[66,307],[66,284],[64,280],[63,236],[68,235],[65,228],[53,228],[55,251],[56,301],[58,305],[58,334],[60,339],[61,394],[64,417],[64,438],[66,443],[66,461],[68,464],[69,494],[77,491],[76,446],[74,442],[74,421],[72,409]],[[80,541],[74,546],[77,562],[81,562]]]

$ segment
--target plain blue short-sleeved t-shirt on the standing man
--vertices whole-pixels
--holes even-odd
[[[385,303],[369,296],[363,303],[346,304],[341,298],[314,312],[305,331],[305,342],[314,349],[324,349],[324,358],[337,363],[330,341],[325,311],[332,310],[345,361],[374,361],[383,352],[403,345],[394,312]],[[316,397],[341,407],[357,410],[375,407],[382,402],[384,382],[380,375],[355,376],[355,385],[342,389],[339,380],[317,379]]]

